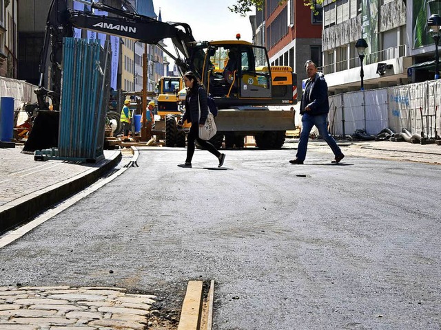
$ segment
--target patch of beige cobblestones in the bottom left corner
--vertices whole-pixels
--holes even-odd
[[[0,329],[143,330],[155,298],[116,287],[0,287]]]

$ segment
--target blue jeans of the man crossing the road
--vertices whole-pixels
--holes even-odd
[[[327,128],[327,114],[323,115],[309,115],[309,113],[304,113],[302,116],[302,133],[300,133],[300,141],[298,142],[297,155],[296,158],[304,161],[306,158],[306,151],[308,148],[309,133],[311,133],[312,126],[316,126],[318,133],[323,140],[331,147],[334,155],[338,156],[342,154],[340,147],[337,145],[336,140],[328,132]]]

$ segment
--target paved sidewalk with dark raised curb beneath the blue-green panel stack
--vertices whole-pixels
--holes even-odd
[[[105,150],[105,159],[96,164],[36,162],[22,150],[21,145],[0,148],[0,232],[79,192],[121,161],[119,150]]]

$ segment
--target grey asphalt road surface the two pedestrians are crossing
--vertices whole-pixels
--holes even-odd
[[[441,329],[440,165],[225,153],[141,150],[2,248],[0,286],[127,287],[178,315],[187,281],[214,279],[213,329]]]

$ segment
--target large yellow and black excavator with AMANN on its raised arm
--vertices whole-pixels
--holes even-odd
[[[181,76],[194,72],[219,109],[218,133],[212,139],[217,147],[224,138],[225,146],[241,147],[246,135],[254,135],[259,148],[280,148],[285,131],[294,129],[293,111],[269,110],[268,106],[297,102],[296,74],[291,67],[271,67],[265,47],[241,41],[239,36],[232,41],[196,41],[187,23],[156,21],[136,13],[128,4],[120,9],[76,1],[108,15],[68,8],[72,1],[52,0],[39,65],[39,88],[35,91],[39,109],[47,109],[50,98],[54,110],[59,111],[63,38],[72,37],[74,28],[81,28],[157,45],[174,60]],[[163,39],[172,40],[176,54],[163,47]],[[227,67],[230,58],[234,65]],[[49,82],[45,82],[46,72],[51,75]]]

